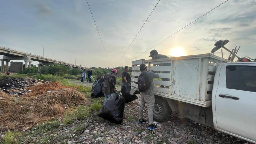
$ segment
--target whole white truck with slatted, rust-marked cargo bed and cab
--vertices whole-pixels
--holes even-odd
[[[256,62],[212,54],[132,61],[130,94],[139,93],[140,64],[160,76],[154,80],[154,120],[178,115],[256,143]]]

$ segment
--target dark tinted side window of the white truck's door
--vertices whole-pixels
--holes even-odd
[[[256,66],[227,66],[226,84],[228,89],[256,92]]]

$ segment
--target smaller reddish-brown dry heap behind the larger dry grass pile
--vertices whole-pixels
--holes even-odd
[[[68,88],[68,86],[63,86],[59,82],[45,82],[32,87],[28,87],[27,90],[31,90],[32,92],[25,95],[26,97],[38,96],[47,91],[57,90],[61,88]]]

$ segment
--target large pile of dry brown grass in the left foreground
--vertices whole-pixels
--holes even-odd
[[[37,123],[59,117],[64,114],[65,107],[86,102],[84,95],[73,89],[58,89],[35,97],[10,96],[0,110],[0,128],[24,130]],[[0,99],[2,103],[2,99]]]

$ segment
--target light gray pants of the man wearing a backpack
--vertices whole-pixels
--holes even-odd
[[[139,107],[139,119],[143,119],[143,110],[145,107],[145,104],[147,104],[148,107],[148,124],[153,124],[153,108],[155,104],[155,96],[153,95],[140,95],[140,107]]]

